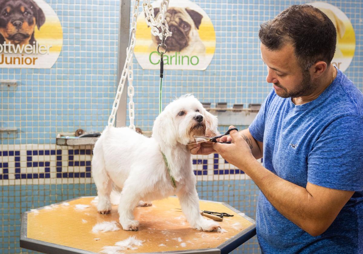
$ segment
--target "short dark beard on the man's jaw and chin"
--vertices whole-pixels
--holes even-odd
[[[298,85],[295,91],[287,91],[285,87],[282,87],[280,84],[274,83],[275,86],[282,88],[284,91],[279,91],[276,93],[278,96],[282,98],[297,98],[306,95],[310,95],[313,93],[316,85],[314,82],[311,82],[311,77],[309,71],[303,71],[302,73],[302,81]]]

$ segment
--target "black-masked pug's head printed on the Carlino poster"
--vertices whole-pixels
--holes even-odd
[[[154,16],[157,17],[159,8],[154,8]],[[193,41],[194,37],[199,37],[198,30],[203,15],[189,8],[170,7],[165,14],[169,31],[172,36],[165,40],[168,51],[180,52]],[[159,28],[161,32],[161,28]],[[158,45],[161,40],[158,36],[152,36],[152,40]]]

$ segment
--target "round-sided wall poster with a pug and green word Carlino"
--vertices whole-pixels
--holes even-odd
[[[155,17],[160,13],[159,6],[160,0],[152,3]],[[164,69],[205,70],[216,48],[215,30],[207,13],[192,1],[170,0],[165,20],[172,36],[165,40]],[[136,59],[143,69],[159,69],[160,38],[151,34],[144,13],[138,16],[136,26]]]

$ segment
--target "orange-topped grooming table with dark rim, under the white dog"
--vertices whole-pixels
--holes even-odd
[[[218,222],[227,232],[202,232],[190,228],[176,197],[152,202],[152,206],[137,207],[135,220],[140,221],[139,230],[93,233],[93,226],[99,222],[117,221],[117,206],[110,214],[99,214],[94,197],[80,197],[68,202],[38,208],[37,212],[25,212],[21,220],[20,247],[49,254],[99,253],[104,246],[135,236],[143,240],[137,250],[125,253],[229,253],[256,234],[256,223],[244,213],[221,202],[200,200],[200,209],[225,212],[233,217],[224,217]],[[76,209],[76,205],[89,208]]]

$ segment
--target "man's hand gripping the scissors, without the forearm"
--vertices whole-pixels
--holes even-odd
[[[229,126],[229,129],[231,128],[234,128],[234,126]],[[230,141],[232,142],[231,144],[214,143],[213,148],[223,157],[223,159],[237,168],[242,169],[245,159],[254,160],[250,146],[237,131],[233,130],[229,135],[230,136],[223,136],[220,138],[220,142]]]

